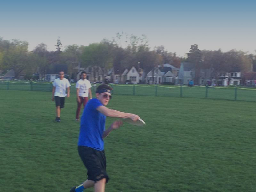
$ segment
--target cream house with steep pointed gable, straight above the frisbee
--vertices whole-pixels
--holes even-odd
[[[137,69],[133,66],[130,70],[125,69],[124,72],[120,76],[121,83],[139,83],[140,82],[140,74]]]

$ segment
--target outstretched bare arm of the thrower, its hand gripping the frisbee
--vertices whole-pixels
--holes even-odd
[[[103,105],[97,107],[96,109],[108,117],[130,118],[132,121],[137,121],[140,118],[138,115],[133,113],[124,113],[121,111],[109,109]]]

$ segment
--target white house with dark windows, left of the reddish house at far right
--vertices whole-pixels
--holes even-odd
[[[240,85],[240,83],[241,72],[218,72],[218,86]]]

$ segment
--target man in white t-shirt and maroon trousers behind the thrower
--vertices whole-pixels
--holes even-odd
[[[90,99],[92,99],[92,91],[91,91],[91,83],[86,79],[87,73],[82,71],[81,79],[76,82],[76,101],[77,101],[77,109],[76,109],[76,121],[79,120],[79,114],[81,105],[86,105],[88,102],[88,93],[90,95]]]

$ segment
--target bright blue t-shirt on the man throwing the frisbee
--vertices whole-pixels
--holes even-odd
[[[80,123],[78,145],[87,146],[96,150],[104,150],[102,139],[105,130],[106,116],[96,110],[103,105],[100,100],[93,98],[85,106]]]

